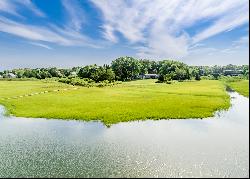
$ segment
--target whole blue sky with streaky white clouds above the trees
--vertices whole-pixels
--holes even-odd
[[[248,64],[248,0],[0,0],[0,70],[120,56]]]

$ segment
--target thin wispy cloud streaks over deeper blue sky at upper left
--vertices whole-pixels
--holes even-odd
[[[20,5],[26,6],[26,8],[29,8],[38,17],[46,17],[30,0],[1,0],[0,11],[22,17],[22,15],[18,13]],[[30,25],[21,21],[14,21],[0,14],[0,32],[37,41],[36,44],[48,42],[63,46],[88,46],[98,48],[99,45],[96,45],[92,39],[80,32],[84,22],[84,16],[77,1],[64,0],[62,1],[62,5],[65,7],[65,14],[68,19],[67,23],[63,23],[61,26],[51,23]]]

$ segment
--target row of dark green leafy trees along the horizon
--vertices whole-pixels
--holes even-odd
[[[158,82],[171,80],[200,80],[201,77],[218,79],[223,75],[242,75],[248,78],[249,65],[226,65],[226,66],[189,66],[175,60],[154,61],[136,59],[133,57],[120,57],[110,65],[98,66],[87,65],[70,69],[36,68],[36,69],[13,69],[0,72],[1,78],[10,78],[10,74],[16,78],[81,78],[91,79],[94,82],[101,81],[129,81],[140,78],[145,74],[157,74]]]

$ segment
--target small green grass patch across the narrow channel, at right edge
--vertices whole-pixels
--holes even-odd
[[[249,80],[229,82],[228,85],[241,95],[249,97]]]

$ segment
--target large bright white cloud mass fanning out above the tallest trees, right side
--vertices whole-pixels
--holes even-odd
[[[104,38],[118,42],[123,35],[137,55],[183,57],[207,38],[249,21],[248,0],[92,0],[104,18]],[[201,21],[211,25],[190,36],[185,29]],[[138,44],[143,44],[138,48]]]

